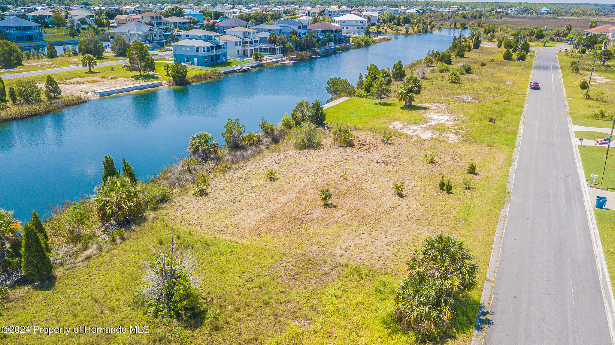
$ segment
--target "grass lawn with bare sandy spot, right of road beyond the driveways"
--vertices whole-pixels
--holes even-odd
[[[593,71],[592,85],[590,85],[590,99],[584,99],[586,90],[581,90],[579,84],[581,80],[589,81],[589,74],[592,69],[593,56],[589,54],[581,55],[579,61],[579,73],[570,71],[570,63],[576,66],[578,53],[574,53],[573,58],[570,58],[570,53],[558,53],[560,60],[560,69],[564,85],[566,87],[566,96],[568,97],[568,106],[570,108],[570,116],[574,125],[611,128],[612,121],[600,120],[593,118],[600,109],[606,111],[607,114],[615,112],[615,68],[610,64],[601,66],[598,62],[595,64]],[[613,61],[613,60],[611,60]]]

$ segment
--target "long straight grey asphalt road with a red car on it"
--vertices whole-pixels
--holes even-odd
[[[557,68],[538,48],[485,344],[611,344]]]

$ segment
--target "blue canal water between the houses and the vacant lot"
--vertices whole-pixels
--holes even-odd
[[[222,144],[226,118],[239,118],[259,131],[261,116],[277,123],[301,99],[329,98],[331,77],[356,83],[369,64],[409,64],[428,51],[445,50],[459,31],[444,29],[319,59],[255,69],[187,87],[165,87],[111,96],[51,114],[0,122],[0,208],[21,220],[35,209],[92,193],[101,182],[102,161],[111,155],[121,169],[125,158],[147,180],[181,156],[190,136],[212,133]]]

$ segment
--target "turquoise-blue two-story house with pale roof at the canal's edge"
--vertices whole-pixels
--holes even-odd
[[[180,63],[207,66],[228,61],[226,44],[218,39],[222,36],[203,29],[192,29],[181,33],[181,41],[172,43],[173,60]]]

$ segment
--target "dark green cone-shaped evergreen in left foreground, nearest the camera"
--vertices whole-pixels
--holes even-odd
[[[54,271],[49,254],[30,223],[23,226],[22,270],[26,277],[38,282],[46,281]]]

